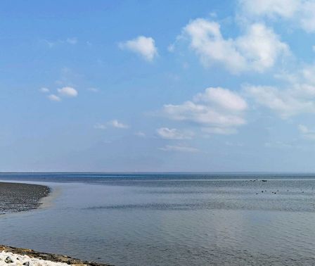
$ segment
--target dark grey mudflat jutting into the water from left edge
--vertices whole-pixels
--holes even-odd
[[[0,214],[37,209],[50,191],[48,186],[38,184],[0,182]]]

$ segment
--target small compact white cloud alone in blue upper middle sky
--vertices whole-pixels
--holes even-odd
[[[136,39],[131,39],[127,42],[119,44],[120,49],[126,49],[134,53],[138,53],[146,61],[153,61],[158,56],[158,49],[155,46],[155,41],[151,37],[139,36]]]

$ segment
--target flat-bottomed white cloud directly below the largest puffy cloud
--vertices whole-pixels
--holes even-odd
[[[207,88],[192,101],[179,105],[166,104],[162,112],[171,120],[191,122],[203,128],[217,128],[212,133],[236,132],[236,127],[245,125],[245,100],[229,89]],[[225,130],[224,130],[225,129]]]

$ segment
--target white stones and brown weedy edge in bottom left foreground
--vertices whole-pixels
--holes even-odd
[[[11,246],[0,246],[0,266],[109,266],[107,264],[88,262],[70,258],[65,255],[40,253],[26,248],[13,248]]]

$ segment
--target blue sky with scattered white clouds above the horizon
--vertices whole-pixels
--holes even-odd
[[[315,0],[4,0],[0,29],[0,172],[315,171]]]

